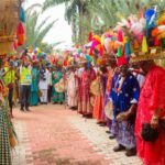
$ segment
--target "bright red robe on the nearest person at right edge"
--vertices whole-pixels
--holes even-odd
[[[156,109],[162,109],[161,118],[165,117],[165,70],[154,66],[146,75],[142,87],[135,124],[138,155],[145,165],[165,165],[165,132],[158,127],[158,140],[154,143],[144,142],[141,138],[142,124],[151,122]]]

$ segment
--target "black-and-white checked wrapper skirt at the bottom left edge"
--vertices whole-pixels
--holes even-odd
[[[11,165],[7,112],[0,108],[0,165]]]

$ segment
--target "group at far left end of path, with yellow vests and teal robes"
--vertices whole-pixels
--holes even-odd
[[[62,78],[62,67],[52,67],[50,63],[40,64],[31,61],[6,59],[1,65],[1,77],[9,89],[10,116],[13,106],[20,102],[21,111],[30,111],[38,102],[47,105],[64,102],[64,94],[58,94],[53,86]]]

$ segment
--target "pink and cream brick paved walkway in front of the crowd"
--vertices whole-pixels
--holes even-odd
[[[107,128],[85,120],[64,106],[38,106],[31,112],[15,110],[19,145],[13,165],[141,165],[138,157],[112,151]]]

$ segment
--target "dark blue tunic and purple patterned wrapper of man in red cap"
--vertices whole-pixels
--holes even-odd
[[[128,111],[133,103],[138,103],[139,95],[140,86],[133,75],[130,74],[125,78],[118,75],[113,77],[110,92],[110,99],[114,106],[111,133],[116,135],[118,143],[127,148],[133,148],[136,145],[134,136],[135,118],[120,122],[116,121],[116,118],[118,114]]]

